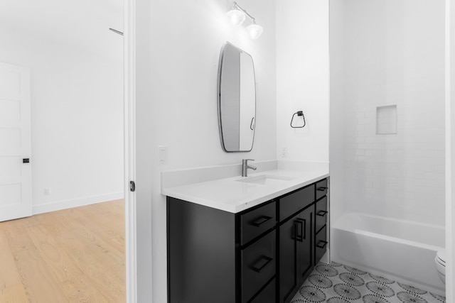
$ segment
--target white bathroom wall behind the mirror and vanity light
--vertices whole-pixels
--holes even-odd
[[[159,194],[159,172],[276,158],[275,1],[237,3],[264,27],[259,39],[228,23],[230,1],[137,1],[139,302],[149,302],[152,288],[154,302],[166,302],[166,199]],[[218,60],[227,40],[255,62],[257,122],[250,153],[224,153],[220,145]],[[167,165],[158,165],[158,145],[168,146]]]

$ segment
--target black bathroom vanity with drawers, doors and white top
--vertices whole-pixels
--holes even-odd
[[[232,209],[191,198],[210,182],[168,191],[168,302],[290,302],[328,247],[327,176],[230,181],[247,183],[224,197],[244,199]]]

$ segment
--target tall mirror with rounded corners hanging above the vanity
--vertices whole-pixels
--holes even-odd
[[[218,68],[218,123],[223,150],[253,148],[256,123],[255,67],[251,55],[227,42]]]

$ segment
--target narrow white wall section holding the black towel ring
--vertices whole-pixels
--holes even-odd
[[[328,0],[277,1],[278,158],[328,162],[328,63]],[[289,125],[296,111],[304,128]]]

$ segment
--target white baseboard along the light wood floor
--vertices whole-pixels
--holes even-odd
[[[84,206],[99,202],[123,199],[123,197],[124,197],[123,192],[114,192],[112,194],[100,194],[97,196],[83,197],[79,199],[62,200],[46,204],[33,205],[32,214],[43,214],[49,211],[70,209],[77,206]]]

